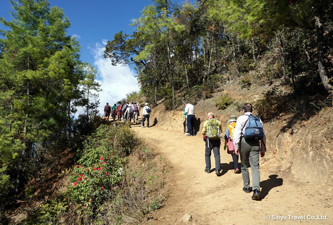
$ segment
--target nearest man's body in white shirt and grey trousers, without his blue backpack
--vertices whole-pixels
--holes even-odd
[[[239,116],[236,122],[235,134],[234,134],[234,146],[236,155],[240,154],[241,162],[241,175],[243,177],[243,191],[250,193],[250,177],[248,163],[251,166],[252,172],[252,200],[260,199],[260,170],[259,170],[259,154],[261,157],[266,152],[266,135],[263,130],[262,120],[259,122],[262,126],[263,137],[261,141],[248,141],[244,138],[245,128],[249,121],[250,115],[252,115],[252,105],[245,103],[242,106],[243,115]]]

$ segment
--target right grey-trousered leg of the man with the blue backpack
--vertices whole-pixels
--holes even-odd
[[[252,174],[252,190],[258,190],[258,191],[260,191],[259,155],[260,155],[260,147],[258,143],[257,146],[251,147],[249,155],[251,174]]]

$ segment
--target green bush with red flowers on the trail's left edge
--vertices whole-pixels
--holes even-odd
[[[123,156],[130,152],[135,141],[134,134],[122,125],[102,125],[86,139],[70,177],[71,201],[81,206],[76,211],[84,210],[91,215],[98,211],[106,196],[110,198],[110,193],[119,191],[127,160]]]

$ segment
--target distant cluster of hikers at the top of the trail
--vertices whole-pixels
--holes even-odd
[[[118,116],[118,121],[121,121],[121,118],[123,119],[124,123],[128,124],[129,127],[131,127],[131,121],[133,119],[133,122],[135,124],[139,123],[139,116],[140,116],[140,106],[136,102],[132,102],[129,104],[129,102],[123,101],[123,103],[117,102],[112,107],[107,102],[104,106],[104,116],[107,120],[109,120],[110,114],[113,118],[113,122],[116,121],[116,117]],[[144,127],[144,122],[147,120],[147,127],[149,127],[149,113],[151,112],[148,103],[144,103],[143,107],[143,119],[142,119],[142,125],[141,127]]]

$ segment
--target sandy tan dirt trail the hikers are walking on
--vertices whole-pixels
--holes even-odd
[[[332,186],[301,183],[290,171],[271,168],[266,162],[260,168],[261,201],[252,201],[253,193],[242,191],[241,174],[234,174],[232,157],[223,145],[223,175],[217,177],[204,172],[205,143],[200,132],[185,136],[158,126],[132,125],[132,129],[170,166],[166,180],[170,197],[147,224],[183,224],[187,213],[192,216],[189,224],[198,225],[333,224]],[[211,162],[214,169],[213,153]]]

